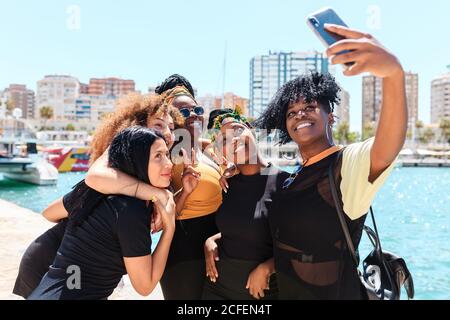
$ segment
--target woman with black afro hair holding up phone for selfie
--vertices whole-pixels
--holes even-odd
[[[341,198],[357,250],[369,207],[406,136],[400,62],[369,34],[334,25],[327,29],[345,38],[328,48],[332,64],[351,65],[346,76],[369,72],[382,78],[380,120],[374,138],[336,146],[333,111],[340,89],[332,76],[317,73],[286,83],[258,119],[259,127],[279,130],[282,143],[294,141],[302,159],[291,176],[279,179],[269,210],[280,299],[367,298],[346,248],[331,188]],[[333,172],[335,186],[328,172]]]

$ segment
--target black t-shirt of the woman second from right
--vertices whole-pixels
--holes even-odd
[[[222,238],[220,255],[232,259],[264,262],[273,256],[272,237],[267,220],[266,202],[275,188],[276,175],[244,176],[228,180],[216,223]]]

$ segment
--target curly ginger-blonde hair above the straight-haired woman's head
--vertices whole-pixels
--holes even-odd
[[[158,95],[132,93],[121,98],[117,102],[116,111],[106,115],[95,130],[91,142],[91,163],[106,151],[120,131],[135,125],[146,127],[150,117],[163,114],[169,114],[173,118],[175,129],[184,126],[184,118],[178,109],[163,104]]]

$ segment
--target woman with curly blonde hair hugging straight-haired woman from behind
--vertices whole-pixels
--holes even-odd
[[[102,158],[108,160],[106,149],[111,144],[114,136],[121,130],[133,125],[147,126],[162,132],[170,148],[173,145],[173,130],[184,125],[184,119],[177,109],[163,106],[158,97],[133,94],[122,98],[116,111],[110,114],[96,130],[91,146],[91,161]],[[102,156],[102,154],[104,154]],[[168,199],[169,192],[152,187],[129,175],[113,169],[104,170],[104,174],[118,175],[124,182],[121,194],[137,197],[141,200],[150,200],[152,195],[160,200]],[[76,193],[73,193],[74,196]],[[65,203],[68,212],[77,210],[70,207],[70,201]],[[67,205],[68,204],[68,205]],[[155,218],[152,229],[160,221],[159,215]],[[67,221],[64,219],[53,228],[49,229],[39,238],[34,240],[22,256],[19,273],[16,279],[13,293],[24,298],[37,287],[49,266],[55,259],[57,250],[61,244]]]

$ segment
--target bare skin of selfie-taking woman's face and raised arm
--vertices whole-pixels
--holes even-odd
[[[408,119],[405,74],[397,57],[372,35],[337,25],[326,25],[325,28],[345,38],[327,49],[331,64],[352,62],[351,67],[344,68],[344,75],[356,76],[369,72],[383,81],[380,120],[370,153],[368,181],[374,182],[392,164],[405,142]],[[338,54],[345,50],[348,53]],[[289,117],[289,112],[307,107],[305,101],[292,103],[285,115],[288,133],[298,144],[303,160],[325,151],[333,144],[331,133],[326,129],[332,124],[333,118],[324,111],[323,106],[318,113],[307,112]],[[299,128],[302,122],[307,121],[311,125]]]

